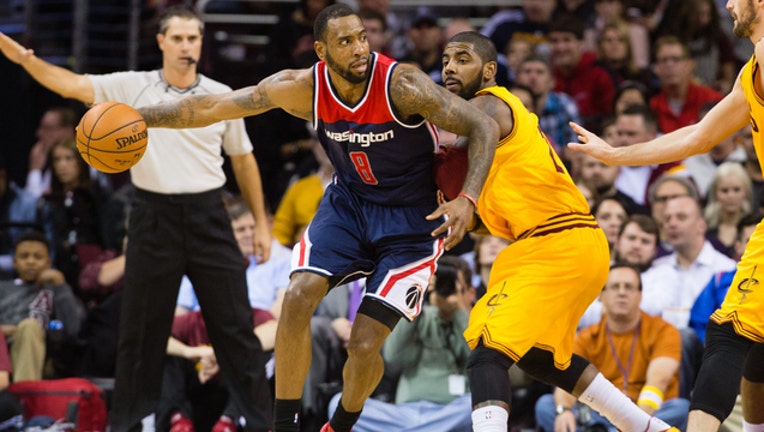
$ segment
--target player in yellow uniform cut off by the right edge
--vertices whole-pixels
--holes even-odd
[[[608,165],[650,165],[705,153],[751,123],[761,164],[764,155],[764,1],[729,0],[737,37],[755,44],[730,93],[703,119],[645,143],[614,148],[573,124],[581,143],[570,143]],[[740,380],[742,375],[742,381]],[[716,431],[732,410],[740,383],[743,431],[764,431],[764,225],[751,236],[722,307],[706,329],[703,365],[695,382],[687,430]]]

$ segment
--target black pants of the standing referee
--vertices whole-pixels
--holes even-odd
[[[194,286],[230,397],[249,431],[271,427],[262,352],[252,332],[245,261],[220,190],[161,195],[136,191],[130,213],[120,315],[113,432],[140,430],[160,396],[162,364],[184,274]]]

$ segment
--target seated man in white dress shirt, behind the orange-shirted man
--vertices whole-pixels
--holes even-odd
[[[706,222],[697,199],[669,199],[660,222],[674,252],[656,259],[642,278],[642,309],[681,331],[680,395],[689,398],[703,355],[703,344],[689,329],[690,309],[711,276],[734,269],[736,263],[706,240]]]

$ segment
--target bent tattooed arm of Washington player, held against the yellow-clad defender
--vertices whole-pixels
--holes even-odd
[[[469,167],[462,187],[466,196],[460,194],[427,216],[432,220],[448,215],[448,220],[432,234],[437,236],[451,228],[444,243],[447,250],[451,249],[477,223],[474,200],[480,196],[493,162],[499,127],[491,117],[436,85],[429,76],[414,67],[399,65],[392,79],[392,102],[403,118],[421,116],[440,128],[469,138]]]

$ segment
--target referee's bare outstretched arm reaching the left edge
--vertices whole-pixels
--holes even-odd
[[[34,55],[7,35],[0,33],[0,51],[8,60],[21,65],[35,81],[65,98],[93,103],[95,92],[90,79],[68,69],[53,65]]]

